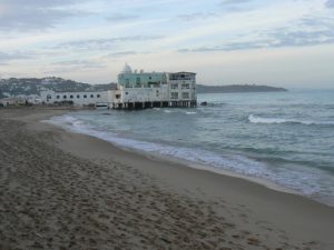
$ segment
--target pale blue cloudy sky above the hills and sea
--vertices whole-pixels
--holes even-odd
[[[0,0],[0,77],[334,88],[334,0]]]

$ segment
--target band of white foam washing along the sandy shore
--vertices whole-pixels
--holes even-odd
[[[220,153],[203,149],[176,147],[122,138],[111,131],[100,130],[97,127],[91,127],[90,124],[85,123],[84,121],[71,116],[56,117],[47,122],[61,126],[73,132],[97,137],[122,148],[136,149],[148,153],[158,153],[161,156],[183,159],[210,167],[213,170],[229,170],[247,177],[264,178],[283,187],[298,190],[306,196],[312,196],[321,191],[321,187],[317,184],[320,182],[316,180],[317,174],[307,172],[305,170],[292,171],[289,169],[285,171],[282,169],[277,172],[273,171],[264,162],[240,154],[227,153],[223,156]],[[296,179],[299,181],[296,182]]]

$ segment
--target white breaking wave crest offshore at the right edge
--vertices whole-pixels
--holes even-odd
[[[297,119],[284,119],[284,118],[263,118],[254,114],[248,116],[248,121],[252,123],[266,123],[266,124],[279,124],[279,123],[296,123],[296,124],[322,124],[334,126],[334,121],[303,121]]]

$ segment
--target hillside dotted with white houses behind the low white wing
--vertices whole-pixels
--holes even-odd
[[[55,91],[104,91],[116,88],[116,83],[88,84],[62,78],[10,78],[0,80],[0,98],[20,94],[39,94],[41,90]]]

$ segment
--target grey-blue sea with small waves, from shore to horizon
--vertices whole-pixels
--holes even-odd
[[[80,111],[49,122],[334,204],[334,90],[198,94],[202,101],[207,106]]]

